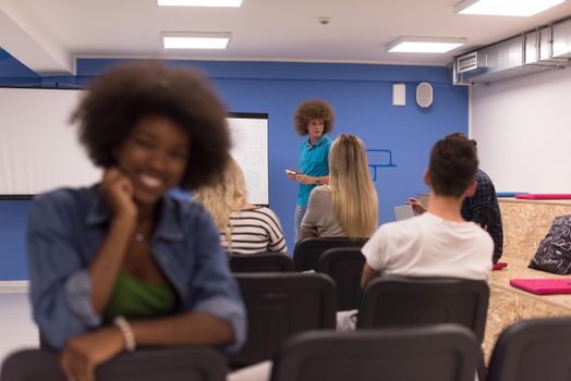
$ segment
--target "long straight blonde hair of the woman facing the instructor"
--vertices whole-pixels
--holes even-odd
[[[340,135],[329,152],[329,187],[337,220],[350,238],[369,237],[377,229],[377,193],[363,142]]]

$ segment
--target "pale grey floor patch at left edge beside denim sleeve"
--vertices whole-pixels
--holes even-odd
[[[38,330],[31,314],[27,293],[0,290],[0,362],[19,348],[38,347]]]

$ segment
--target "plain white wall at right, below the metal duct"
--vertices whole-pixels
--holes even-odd
[[[571,67],[476,86],[472,137],[496,190],[571,194]]]

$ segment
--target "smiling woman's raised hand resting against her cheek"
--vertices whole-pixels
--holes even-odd
[[[99,194],[117,217],[137,217],[137,207],[133,199],[133,182],[117,167],[108,168],[99,186]]]

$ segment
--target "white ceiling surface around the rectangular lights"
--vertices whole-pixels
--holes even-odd
[[[243,0],[235,9],[197,9],[156,0],[0,0],[0,47],[39,74],[73,73],[78,57],[446,65],[454,54],[571,16],[571,0],[532,17],[459,15],[458,2]],[[221,51],[163,51],[161,32],[231,32],[232,39]],[[399,36],[465,37],[467,45],[447,54],[387,53]]]

